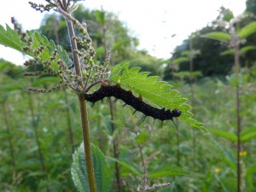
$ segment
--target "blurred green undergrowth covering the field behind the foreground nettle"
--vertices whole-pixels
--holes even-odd
[[[21,73],[23,68],[19,68]],[[9,73],[9,70],[8,67],[5,67],[1,72],[0,79],[5,79],[1,83],[7,84],[8,79],[11,79],[6,75],[6,73]],[[14,70],[17,70],[15,66]],[[24,84],[29,83],[23,78],[15,81],[16,84],[20,84],[21,82]],[[254,79],[248,83],[253,85],[253,82]],[[49,84],[45,84],[44,86],[49,86]],[[242,131],[241,135],[244,139],[253,136],[255,132],[255,127],[253,127],[255,108],[252,108],[252,103],[255,100],[255,92],[251,92],[253,89],[253,86],[245,88],[248,95],[242,98],[242,103],[244,103],[242,108],[247,109],[246,113],[243,114],[243,119],[246,119],[247,125],[252,125]],[[179,90],[186,95],[189,91],[189,87],[187,84],[180,84]],[[64,104],[63,92],[53,92],[46,96],[32,95],[35,105],[38,108],[37,114],[40,120],[39,131],[41,143],[44,146],[44,155],[49,177],[47,180],[44,178],[44,173],[40,170],[38,153],[32,139],[33,131],[29,124],[29,113],[26,111],[28,96],[25,91],[20,92],[21,94],[17,94],[18,92],[16,91],[17,90],[13,90],[9,92],[10,95],[6,104],[10,112],[9,118],[12,119],[11,125],[13,127],[12,132],[14,133],[13,138],[15,152],[17,154],[16,159],[18,161],[19,177],[17,177],[14,183],[12,167],[10,166],[8,135],[5,133],[5,124],[1,118],[0,124],[3,126],[0,134],[0,145],[3,159],[0,163],[0,188],[3,190],[16,189],[16,191],[45,191],[45,183],[49,183],[51,186],[50,189],[55,191],[76,191],[70,177],[69,166],[72,164],[72,154],[70,143],[68,143],[67,140],[67,114],[64,110],[66,105]],[[205,122],[206,127],[212,127],[214,130],[234,134],[234,101],[231,99],[232,94],[233,90],[226,81],[219,79],[202,79],[197,82],[195,84],[196,102],[194,105],[194,108],[196,108],[196,116],[200,117],[201,120]],[[82,132],[79,129],[79,118],[77,118],[79,108],[74,104],[76,98],[73,94],[69,93],[68,98],[71,102],[68,108],[72,109],[74,145],[79,147],[82,139]],[[56,102],[60,104],[52,108],[52,104]],[[203,103],[203,106],[201,103]],[[216,103],[218,103],[218,105],[216,105]],[[230,140],[213,134],[212,129],[208,129],[212,134],[207,136],[197,132],[196,137],[199,137],[197,148],[198,156],[195,159],[196,164],[193,166],[191,161],[192,140],[188,129],[189,127],[179,124],[178,130],[170,129],[170,124],[168,123],[160,128],[160,125],[157,123],[152,125],[152,119],[146,119],[142,122],[140,115],[132,115],[133,110],[131,108],[121,108],[121,105],[122,102],[119,101],[114,105],[121,110],[121,113],[116,113],[117,119],[114,120],[115,125],[118,126],[114,137],[119,136],[118,162],[120,165],[120,175],[124,183],[123,190],[125,192],[131,191],[131,187],[136,188],[142,174],[141,156],[139,148],[137,147],[137,134],[133,133],[132,130],[148,133],[145,141],[142,139],[139,140],[139,143],[143,143],[143,157],[148,162],[148,177],[152,178],[154,173],[159,172],[158,177],[154,177],[156,183],[172,183],[172,186],[166,189],[166,191],[187,192],[191,187],[193,187],[194,191],[209,191],[210,189],[212,191],[219,191],[225,186],[225,188],[227,188],[228,183],[224,182],[224,179],[227,177],[234,180],[234,185],[236,176],[233,169],[230,168],[230,165],[232,165],[230,164],[230,160],[232,160],[232,158],[234,159],[236,153],[233,148],[234,145]],[[104,102],[104,105],[96,103],[96,106],[89,108],[89,110],[91,137],[94,138],[93,142],[99,146],[102,152],[108,157],[108,164],[113,170],[116,160],[110,158],[113,156],[112,145],[106,144],[110,143],[113,139],[110,132],[111,119],[108,112],[108,103]],[[98,121],[96,117],[101,118]],[[99,133],[102,133],[102,135],[99,135]],[[183,177],[172,177],[172,173],[175,173],[175,167],[177,165],[176,133],[178,133],[181,139],[178,148],[181,153],[179,163],[182,168],[178,168],[189,171],[189,175]],[[214,138],[215,142],[219,143],[222,148],[219,148],[214,142],[210,142],[210,138]],[[253,154],[255,154],[255,137],[244,144],[244,150],[247,151],[247,155],[242,158],[243,163],[247,165],[244,170],[247,175],[247,188],[245,191],[251,192],[255,188],[256,169],[253,156]],[[219,169],[218,173],[214,171],[216,168]],[[136,172],[139,174],[137,175]],[[161,177],[159,177],[160,175]],[[222,182],[222,184],[220,184],[220,182]],[[115,191],[114,184],[110,191]]]

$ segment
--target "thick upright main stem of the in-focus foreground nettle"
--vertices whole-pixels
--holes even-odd
[[[67,19],[67,30],[68,35],[70,39],[71,49],[72,49],[72,55],[73,55],[73,63],[76,74],[81,77],[81,68],[79,63],[79,55],[77,53],[78,45],[76,40],[73,38],[75,37],[74,29],[73,29],[73,23],[71,20]],[[84,84],[82,81],[79,81],[79,87],[83,88]],[[91,154],[91,148],[90,148],[90,131],[89,131],[89,119],[88,119],[88,113],[86,108],[86,102],[84,99],[84,94],[79,93],[79,108],[80,108],[80,117],[81,117],[81,124],[82,124],[82,131],[83,131],[83,140],[84,140],[84,154],[85,154],[85,163],[86,163],[86,171],[88,175],[88,182],[90,186],[90,192],[96,192],[96,179],[95,174],[93,170],[93,163],[92,163],[92,154]]]

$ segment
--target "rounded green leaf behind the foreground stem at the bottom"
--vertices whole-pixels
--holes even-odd
[[[113,182],[113,172],[107,164],[104,154],[94,144],[91,145],[93,166],[96,177],[97,191],[108,192]],[[73,164],[71,167],[73,183],[79,192],[90,192],[87,178],[84,143],[73,154]]]

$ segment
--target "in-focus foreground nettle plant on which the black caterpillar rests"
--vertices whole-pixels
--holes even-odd
[[[79,191],[109,191],[113,180],[113,173],[107,164],[104,154],[94,144],[90,143],[90,123],[86,96],[89,96],[91,88],[96,84],[102,84],[102,87],[119,87],[122,90],[120,92],[126,95],[117,96],[118,93],[111,93],[111,96],[116,96],[117,99],[121,98],[128,105],[131,105],[131,102],[136,102],[131,106],[145,113],[146,116],[153,116],[154,119],[163,121],[165,120],[164,118],[158,118],[162,110],[162,112],[171,113],[170,115],[172,116],[171,118],[169,117],[171,120],[173,117],[178,117],[195,129],[206,131],[203,128],[203,124],[192,118],[193,114],[189,112],[190,107],[186,103],[187,100],[178,95],[177,90],[172,90],[172,85],[159,81],[159,77],[148,76],[149,73],[140,73],[140,68],[129,68],[128,63],[121,63],[108,70],[110,52],[106,54],[106,59],[102,65],[96,65],[96,52],[87,32],[87,26],[71,15],[73,10],[77,8],[76,3],[79,0],[45,0],[45,2],[46,4],[44,5],[30,4],[33,9],[40,12],[54,9],[65,17],[72,58],[61,46],[55,45],[54,41],[48,40],[38,32],[23,32],[14,18],[12,18],[14,30],[9,26],[6,26],[6,29],[0,26],[0,44],[19,50],[23,54],[32,57],[24,64],[26,66],[25,76],[47,74],[60,79],[50,89],[29,87],[27,90],[49,93],[64,87],[72,90],[78,96],[84,141],[73,154],[71,170],[73,182]],[[77,28],[78,31],[75,31],[74,28]],[[78,47],[81,49],[78,49]],[[127,94],[130,94],[130,101],[128,101],[129,98],[126,98]],[[90,96],[93,96],[93,94]],[[108,94],[106,96],[110,97]],[[134,101],[133,98],[135,96],[137,96],[137,100]],[[149,104],[146,104],[144,100]],[[96,101],[96,98],[94,101]],[[147,108],[158,113],[153,112],[150,113],[153,115],[150,115],[147,112]],[[177,111],[179,112],[178,114],[175,113]],[[144,170],[144,174],[146,178],[146,170]],[[165,187],[166,185],[168,184],[164,183],[157,186]],[[140,187],[140,189],[143,188]],[[143,189],[143,191],[145,190]]]

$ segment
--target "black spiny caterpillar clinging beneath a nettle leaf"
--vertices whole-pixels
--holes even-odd
[[[116,100],[120,99],[125,102],[123,107],[125,107],[125,105],[131,105],[132,108],[135,108],[134,113],[137,111],[144,113],[144,119],[147,116],[150,116],[154,119],[160,119],[161,121],[170,119],[173,122],[173,117],[179,117],[181,115],[181,111],[178,109],[173,109],[171,111],[169,109],[165,110],[165,108],[154,108],[143,102],[142,98],[133,96],[130,90],[123,90],[119,85],[102,85],[101,88],[94,93],[84,94],[85,100],[92,102],[92,106],[95,102],[103,101],[104,97],[108,97],[109,100],[111,96],[114,96]]]

